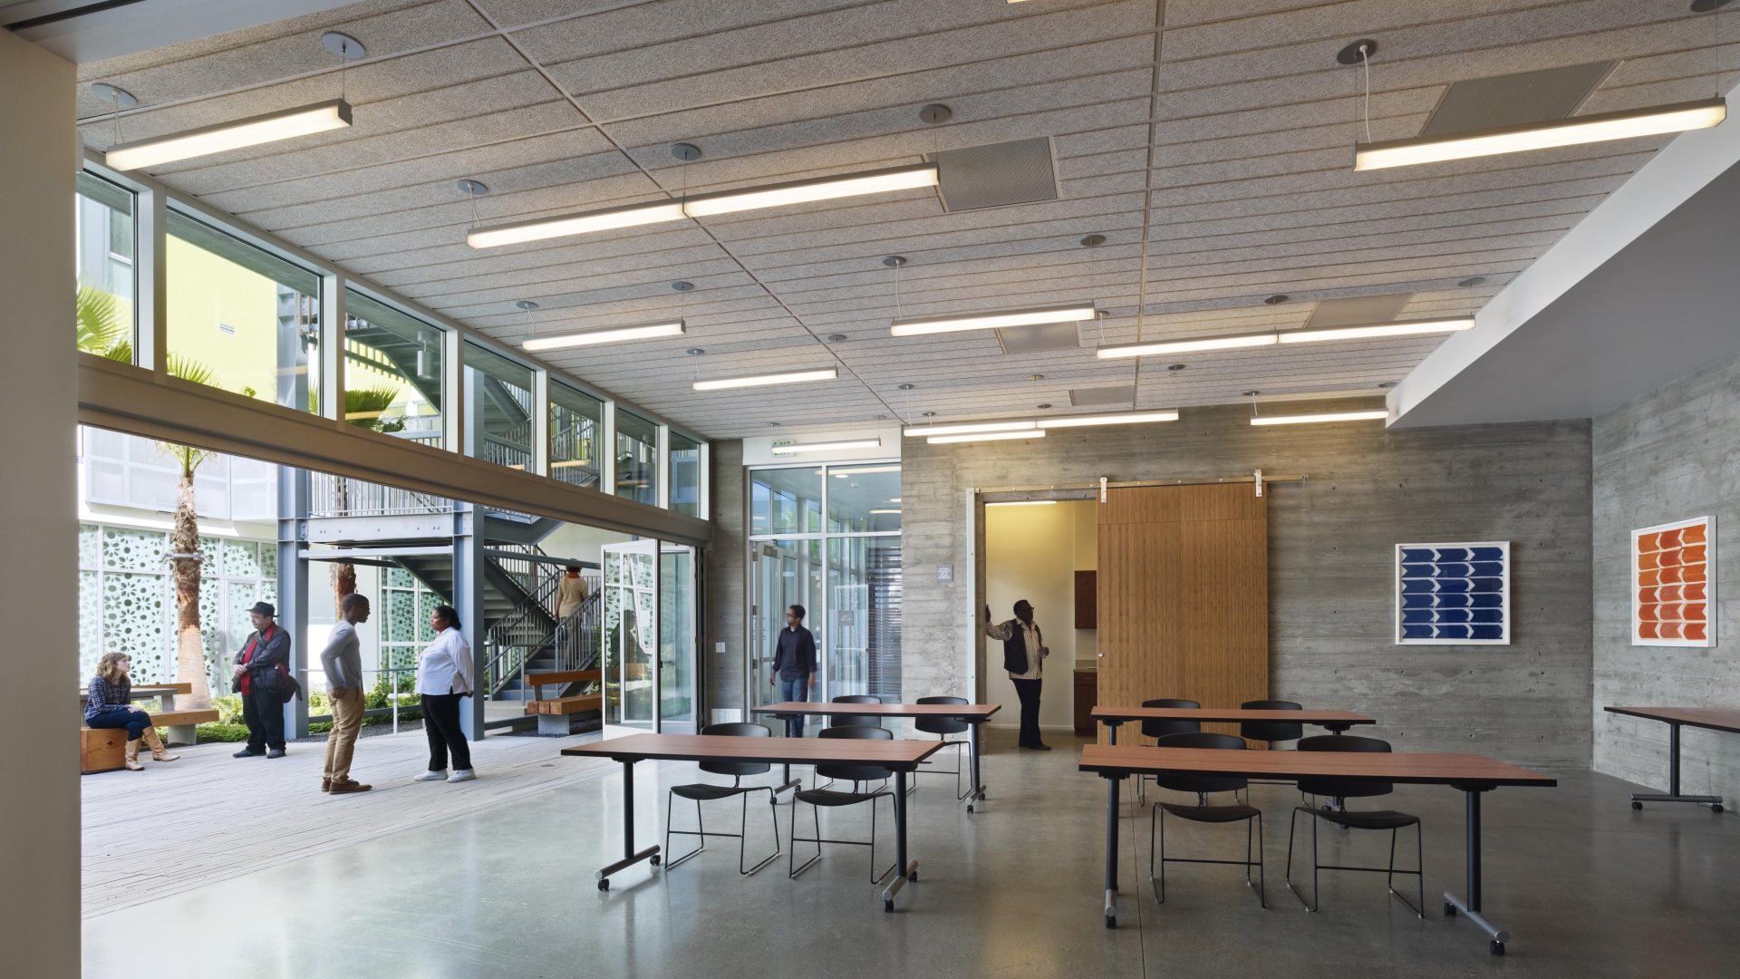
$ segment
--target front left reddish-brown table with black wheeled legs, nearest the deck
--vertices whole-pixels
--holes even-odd
[[[659,864],[658,845],[635,850],[635,761],[764,761],[767,765],[875,765],[894,772],[894,854],[900,876],[882,890],[882,909],[894,909],[894,894],[919,880],[919,861],[907,859],[907,773],[934,754],[940,740],[858,740],[727,735],[628,735],[578,747],[562,754],[609,758],[623,765],[623,859],[593,876],[599,890],[611,888],[611,874],[649,861]]]

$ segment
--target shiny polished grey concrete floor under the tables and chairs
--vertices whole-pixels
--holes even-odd
[[[606,775],[501,807],[416,826],[85,922],[92,977],[1081,977],[1081,976],[1552,976],[1716,977],[1740,967],[1740,820],[1695,807],[1634,812],[1636,787],[1569,773],[1557,789],[1486,796],[1486,911],[1514,937],[1442,916],[1463,887],[1462,794],[1397,787],[1369,808],[1425,819],[1427,916],[1389,897],[1382,876],[1322,878],[1307,913],[1282,883],[1288,812],[1298,794],[1256,786],[1267,826],[1268,908],[1237,868],[1173,866],[1168,902],[1148,892],[1148,815],[1122,820],[1119,928],[1101,918],[1105,782],[1075,770],[1075,744],[1016,753],[987,739],[990,801],[967,814],[954,780],[912,796],[920,881],[893,915],[868,855],[837,847],[797,880],[786,861],[738,876],[734,841],[673,871],[621,871],[600,894],[592,871],[621,852],[621,777]],[[572,760],[552,760],[557,765]],[[663,826],[663,786],[693,765],[642,763],[642,841]],[[710,779],[710,777],[706,777]],[[442,789],[444,786],[435,786]],[[1148,796],[1154,798],[1154,793]],[[710,827],[734,824],[710,803]],[[860,807],[861,808],[861,807]],[[781,838],[790,807],[778,807]],[[769,847],[752,805],[752,852]],[[887,810],[884,808],[884,814]],[[809,810],[802,807],[807,819]],[[693,817],[693,805],[679,820]],[[214,814],[221,819],[221,814]],[[823,815],[860,836],[861,812]],[[1235,859],[1244,833],[1180,826],[1173,855]],[[882,822],[887,831],[887,822]],[[1303,824],[1302,824],[1303,829]],[[891,840],[891,836],[886,836]],[[1383,861],[1387,833],[1324,833],[1324,862]],[[270,847],[238,840],[237,847]],[[642,843],[644,845],[644,843]],[[682,847],[682,841],[677,843]],[[1176,850],[1174,850],[1176,848]],[[1413,847],[1404,847],[1413,857]],[[879,859],[891,852],[879,848]],[[1138,869],[1140,864],[1140,869]],[[1298,876],[1298,874],[1295,874]],[[1307,871],[1308,878],[1308,871]],[[1401,890],[1401,887],[1399,887]]]

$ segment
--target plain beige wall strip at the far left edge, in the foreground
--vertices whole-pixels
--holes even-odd
[[[0,751],[0,946],[7,976],[78,976],[78,491],[70,61],[0,31],[0,674],[16,692]]]

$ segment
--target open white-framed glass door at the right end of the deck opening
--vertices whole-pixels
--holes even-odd
[[[658,730],[658,542],[606,544],[604,557],[604,737]]]

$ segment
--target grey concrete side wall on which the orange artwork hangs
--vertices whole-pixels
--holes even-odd
[[[1596,418],[1596,770],[1667,789],[1667,725],[1603,707],[1740,707],[1740,357]],[[1630,531],[1716,514],[1716,646],[1630,645]],[[1686,728],[1681,791],[1740,796],[1740,737]]]

